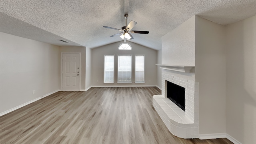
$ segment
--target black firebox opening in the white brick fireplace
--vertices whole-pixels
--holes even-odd
[[[185,88],[167,81],[167,98],[185,112]]]

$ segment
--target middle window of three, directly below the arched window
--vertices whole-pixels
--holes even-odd
[[[131,55],[118,55],[118,82],[132,82]]]

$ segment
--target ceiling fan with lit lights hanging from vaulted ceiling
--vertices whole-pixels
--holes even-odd
[[[128,26],[127,26],[128,14],[125,14],[124,18],[125,18],[125,26],[123,26],[121,29],[112,28],[112,27],[109,27],[109,26],[103,26],[104,28],[110,28],[110,29],[122,31],[122,32],[114,34],[110,37],[118,36],[118,35],[122,34],[120,37],[124,40],[124,42],[126,42],[126,40],[130,40],[130,39],[132,40],[133,39],[133,36],[132,36],[131,33],[134,33],[134,34],[148,34],[149,33],[148,31],[132,30],[132,28],[137,24],[137,22],[131,20],[130,23],[128,24]]]

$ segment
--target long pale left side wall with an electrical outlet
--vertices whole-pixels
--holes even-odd
[[[0,32],[0,48],[0,113],[60,89],[59,46]]]

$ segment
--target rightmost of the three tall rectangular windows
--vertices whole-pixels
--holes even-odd
[[[145,56],[135,56],[135,82],[145,82],[144,58]]]

